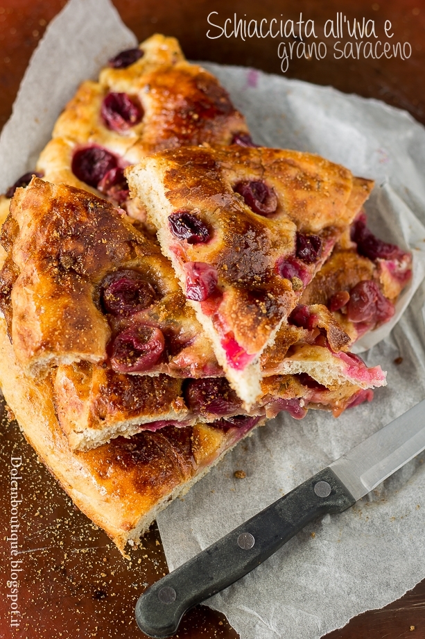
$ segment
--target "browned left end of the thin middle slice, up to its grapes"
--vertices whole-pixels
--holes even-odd
[[[74,450],[129,437],[153,422],[196,421],[187,419],[182,380],[166,375],[122,375],[81,362],[59,366],[53,390],[60,426]]]

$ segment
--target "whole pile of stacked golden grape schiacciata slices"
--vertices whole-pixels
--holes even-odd
[[[367,235],[372,182],[255,147],[172,38],[84,83],[36,173],[0,201],[1,386],[121,549],[266,418],[337,416],[385,384],[349,352],[410,278]]]

